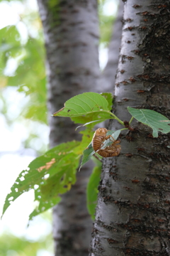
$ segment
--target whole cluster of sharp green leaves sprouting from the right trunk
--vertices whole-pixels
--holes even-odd
[[[82,126],[86,126],[86,129],[81,132],[82,140],[81,142],[62,143],[33,160],[29,164],[28,170],[23,170],[11,187],[11,193],[6,197],[3,214],[11,202],[30,189],[34,189],[35,201],[39,203],[38,207],[30,214],[30,220],[60,202],[60,195],[69,191],[76,182],[80,156],[83,155],[80,168],[95,156],[91,144],[94,125],[106,119],[116,119],[123,125],[123,129],[128,129],[124,126],[124,122],[111,112],[111,105],[111,93],[100,95],[95,92],[85,92],[67,100],[64,107],[52,115],[54,118],[69,117],[74,122],[81,122]],[[162,114],[152,110],[137,110],[132,107],[128,107],[128,112],[132,114],[129,124],[133,118],[137,119],[153,129],[153,137],[158,137],[158,132],[164,134],[170,132],[170,121]],[[117,139],[123,129],[108,131],[106,135]],[[103,142],[101,149],[105,149],[111,143],[111,140],[107,139]],[[100,156],[97,159],[99,160],[98,164],[89,178],[87,188],[88,209],[92,218],[94,218],[97,185],[101,171]]]

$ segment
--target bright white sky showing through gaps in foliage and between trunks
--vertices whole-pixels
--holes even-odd
[[[115,14],[117,11],[116,0],[108,0],[104,6],[104,13],[108,15]],[[18,31],[21,33],[23,42],[27,40],[27,29],[25,25],[20,21],[20,14],[26,9],[38,9],[35,0],[28,0],[27,6],[23,6],[20,1],[1,1],[0,3],[0,29],[9,25],[16,25]],[[33,31],[35,33],[35,31]],[[107,62],[107,49],[100,48],[99,60],[101,68],[106,65]],[[10,72],[13,73],[16,69],[15,61],[8,63],[6,68],[6,75]],[[8,98],[8,116],[13,118],[18,116],[20,112],[20,106],[26,104],[26,97],[20,92],[16,92],[16,89],[7,88],[4,91],[6,98]],[[14,100],[13,100],[14,99]],[[1,100],[0,100],[1,111]],[[26,126],[23,127],[19,122],[15,122],[11,125],[10,129],[6,124],[3,114],[0,114],[1,133],[0,133],[0,214],[4,205],[4,200],[7,193],[9,193],[11,186],[16,180],[18,174],[23,169],[27,169],[28,164],[35,158],[33,151],[28,151],[28,155],[22,155],[23,148],[22,142],[26,140],[28,132]],[[29,124],[30,126],[33,124]],[[35,124],[36,125],[36,124]],[[35,129],[32,127],[31,129]],[[48,143],[48,127],[38,124],[38,132],[41,132],[41,139],[46,144]],[[26,152],[25,152],[26,153]],[[25,236],[28,240],[38,240],[40,237],[47,233],[52,232],[52,224],[43,220],[41,216],[36,217],[31,223],[29,228],[28,215],[34,208],[33,203],[34,195],[33,191],[24,193],[20,196],[9,208],[2,220],[0,221],[0,234],[4,231],[10,231],[13,235],[18,237]],[[38,256],[51,256],[48,252],[40,252]]]

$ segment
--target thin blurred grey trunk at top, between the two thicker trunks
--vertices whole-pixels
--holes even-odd
[[[123,1],[120,0],[118,15],[113,24],[113,34],[108,48],[108,63],[99,80],[98,89],[100,89],[101,92],[113,92],[114,90],[123,27],[123,7]]]

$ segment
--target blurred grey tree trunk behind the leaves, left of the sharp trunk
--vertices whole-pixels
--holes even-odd
[[[60,110],[70,97],[96,91],[98,15],[96,0],[38,0],[47,50],[48,112]],[[50,117],[50,147],[79,139],[70,119]],[[92,222],[86,210],[89,166],[77,175],[77,184],[54,208],[55,255],[88,254]]]

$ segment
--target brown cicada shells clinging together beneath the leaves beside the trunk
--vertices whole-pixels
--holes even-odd
[[[92,146],[94,148],[94,151],[96,151],[96,153],[103,157],[118,156],[121,150],[121,146],[118,145],[119,141],[113,139],[111,135],[106,136],[107,132],[108,130],[106,128],[96,129],[96,132],[94,133],[94,137],[92,139]],[[110,146],[106,146],[105,149],[101,149],[101,146],[103,146],[103,142],[109,138],[113,140],[113,144],[111,144]]]

